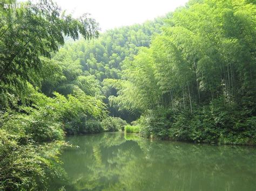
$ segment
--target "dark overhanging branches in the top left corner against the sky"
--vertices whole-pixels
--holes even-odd
[[[23,6],[21,9],[0,8],[0,86],[12,84],[21,89],[24,81],[33,83],[43,65],[40,56],[50,58],[51,52],[64,44],[63,35],[73,39],[78,39],[78,33],[85,39],[98,36],[95,20],[86,15],[73,19],[60,13],[52,1],[41,3],[50,6],[47,9],[26,9]]]

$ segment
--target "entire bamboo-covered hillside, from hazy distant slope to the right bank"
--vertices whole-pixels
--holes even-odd
[[[190,1],[166,18],[66,44],[55,58],[62,55],[80,76],[56,90],[79,86],[107,103],[110,115],[137,119],[142,136],[255,144],[250,1]]]

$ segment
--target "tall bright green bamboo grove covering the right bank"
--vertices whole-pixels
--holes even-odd
[[[124,62],[112,104],[139,111],[142,134],[222,144],[256,141],[256,6],[190,1]],[[136,95],[136,96],[134,96]]]

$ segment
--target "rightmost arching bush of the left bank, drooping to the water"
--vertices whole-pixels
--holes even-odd
[[[61,96],[56,93],[57,97]],[[105,104],[95,97],[87,96],[77,89],[63,103],[65,108],[62,121],[68,134],[86,134],[102,132],[100,120],[105,117]]]

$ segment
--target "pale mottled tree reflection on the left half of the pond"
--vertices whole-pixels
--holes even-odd
[[[126,141],[122,133],[71,139],[72,144],[80,148],[68,148],[63,162],[77,189],[125,187],[120,181],[120,172],[124,172],[129,160],[133,162],[138,157],[134,154],[140,150],[138,143]]]

